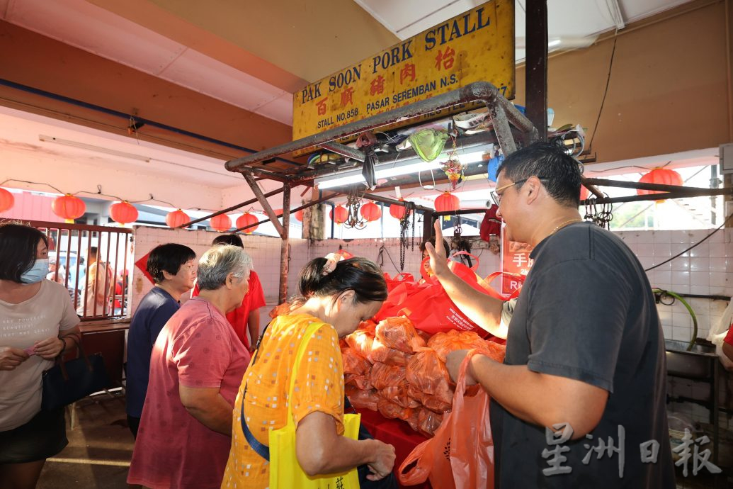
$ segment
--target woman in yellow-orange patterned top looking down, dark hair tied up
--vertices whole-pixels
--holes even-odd
[[[296,457],[306,474],[317,477],[367,465],[371,471],[367,479],[379,480],[394,466],[393,446],[342,436],[344,372],[339,337],[352,333],[382,306],[387,298],[382,271],[364,258],[339,262],[317,258],[301,271],[298,289],[301,297],[290,312],[270,323],[242,380],[222,488],[268,487],[270,466],[258,453],[264,451],[257,448],[256,452],[247,439],[251,435],[267,445],[268,430],[286,424],[288,405],[296,427]],[[312,323],[320,327],[308,339],[308,361],[303,359],[297,366],[298,389],[289,399],[295,353]],[[242,411],[250,435],[243,433]]]

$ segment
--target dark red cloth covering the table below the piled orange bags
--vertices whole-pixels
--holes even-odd
[[[379,441],[394,446],[394,476],[405,458],[415,449],[416,446],[427,440],[423,435],[410,428],[407,422],[400,419],[386,419],[376,411],[369,409],[357,409],[361,413],[361,424],[372,433],[372,436]],[[430,481],[424,484],[403,486],[397,482],[400,488],[406,489],[431,489]]]

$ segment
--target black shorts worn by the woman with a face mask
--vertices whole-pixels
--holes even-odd
[[[64,408],[39,411],[26,424],[0,431],[0,464],[45,460],[68,443]]]

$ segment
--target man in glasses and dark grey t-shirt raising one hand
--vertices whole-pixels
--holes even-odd
[[[581,171],[559,147],[531,144],[497,175],[498,215],[509,240],[534,246],[534,266],[504,364],[474,356],[468,368],[492,397],[496,487],[674,488],[664,340],[644,269],[622,240],[583,223]],[[501,303],[428,250],[455,304],[503,334]],[[453,378],[465,353],[447,359]]]

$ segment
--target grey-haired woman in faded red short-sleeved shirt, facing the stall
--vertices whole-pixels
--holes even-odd
[[[242,304],[252,260],[215,246],[199,260],[200,294],[163,326],[128,483],[147,488],[219,488],[232,442],[232,406],[249,353],[226,322]]]

